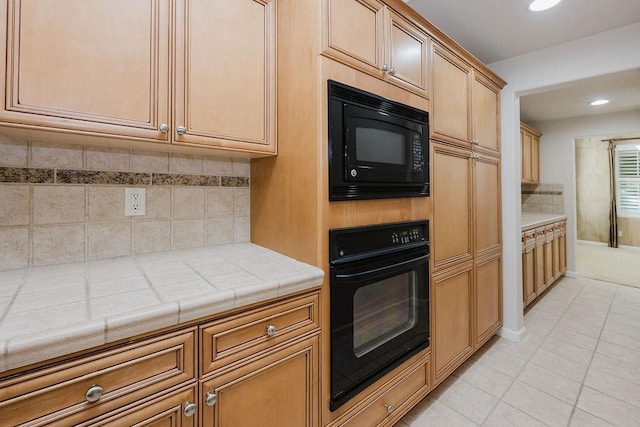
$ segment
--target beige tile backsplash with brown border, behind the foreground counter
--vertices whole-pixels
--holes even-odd
[[[248,242],[249,160],[0,136],[0,271]],[[125,187],[146,215],[124,216]]]

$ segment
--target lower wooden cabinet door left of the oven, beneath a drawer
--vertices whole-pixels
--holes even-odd
[[[313,336],[203,381],[202,425],[319,425],[318,363]]]

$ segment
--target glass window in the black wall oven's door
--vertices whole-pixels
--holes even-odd
[[[410,330],[417,318],[415,271],[358,289],[353,296],[353,349],[356,357]]]

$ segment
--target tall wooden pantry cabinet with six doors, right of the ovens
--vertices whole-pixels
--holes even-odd
[[[502,326],[499,92],[433,43],[432,339],[438,384]]]

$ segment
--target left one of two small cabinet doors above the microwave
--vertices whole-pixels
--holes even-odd
[[[324,0],[322,42],[323,54],[382,78],[384,4]]]

